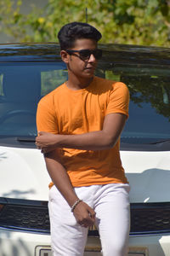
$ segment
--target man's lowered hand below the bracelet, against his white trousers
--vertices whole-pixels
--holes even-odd
[[[88,228],[94,224],[95,212],[84,201],[81,201],[74,209],[74,216],[77,223],[84,228]]]

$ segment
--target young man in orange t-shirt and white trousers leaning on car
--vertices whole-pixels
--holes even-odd
[[[72,22],[59,31],[68,81],[37,108],[37,148],[52,178],[49,216],[54,256],[83,255],[95,224],[104,256],[127,255],[129,185],[119,154],[128,116],[125,84],[94,76],[100,32]]]

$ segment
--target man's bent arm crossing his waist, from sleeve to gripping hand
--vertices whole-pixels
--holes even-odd
[[[102,131],[91,131],[77,135],[60,135],[39,131],[37,148],[47,153],[55,148],[77,148],[82,150],[103,150],[112,148],[126,122],[126,115],[110,113],[106,115]]]

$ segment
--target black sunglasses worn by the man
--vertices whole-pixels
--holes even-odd
[[[82,61],[88,61],[91,55],[94,55],[96,60],[99,60],[102,57],[102,49],[67,49],[66,52],[69,55],[75,55],[75,52],[79,53],[79,55],[76,56]]]

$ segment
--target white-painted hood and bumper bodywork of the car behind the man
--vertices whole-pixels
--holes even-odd
[[[169,201],[170,151],[121,151],[121,158],[131,186],[131,202]],[[36,148],[0,147],[0,180],[6,181],[0,186],[2,197],[48,201],[50,178],[43,155]],[[149,256],[169,256],[169,241],[168,234],[131,236],[129,248],[133,248],[135,252],[139,252],[140,247],[145,248],[150,252]],[[37,246],[49,248],[50,236],[2,229],[0,244],[0,256],[39,256]],[[96,246],[97,244],[94,247]],[[101,254],[86,252],[84,255]]]

